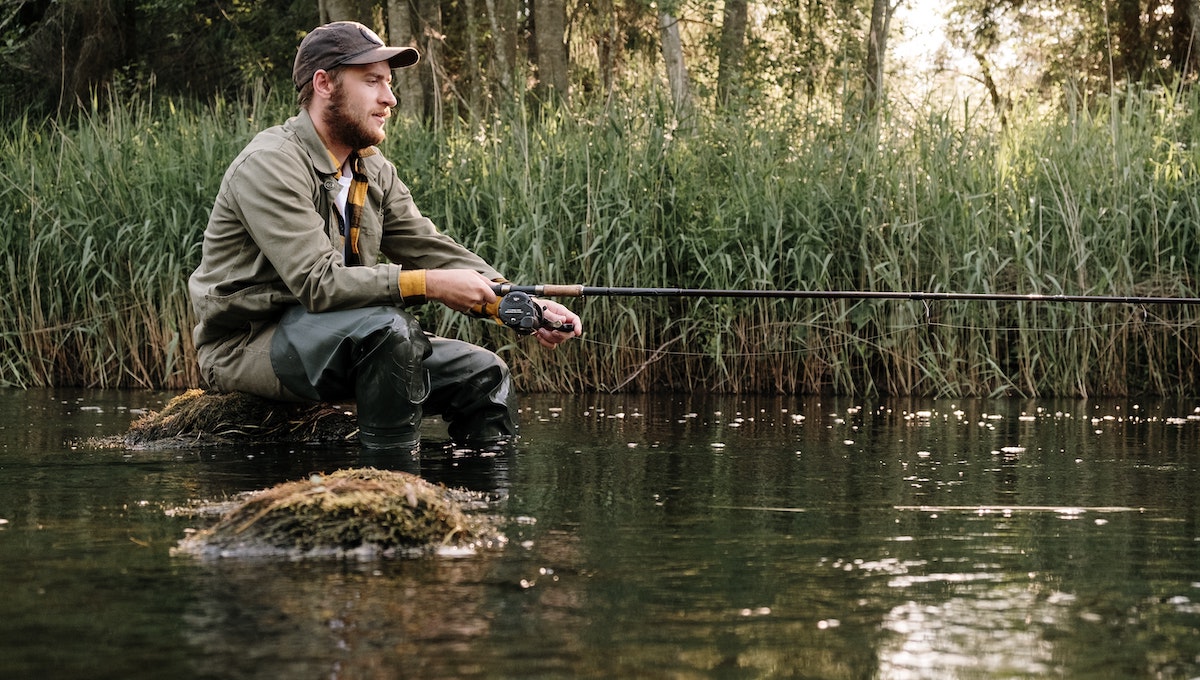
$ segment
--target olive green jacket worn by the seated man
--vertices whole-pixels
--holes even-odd
[[[364,266],[343,264],[338,168],[307,112],[259,132],[229,166],[188,281],[192,337],[210,385],[278,396],[264,353],[288,306],[403,306],[402,269],[472,269],[500,278],[420,213],[377,149],[359,155],[368,186],[359,234]]]

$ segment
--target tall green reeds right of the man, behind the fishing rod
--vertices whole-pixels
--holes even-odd
[[[646,102],[517,116],[448,139],[419,192],[444,197],[448,229],[538,281],[1194,296],[1195,109],[1166,91],[1078,103],[1006,132],[972,110],[877,130],[778,112],[692,136]],[[512,353],[527,389],[1171,393],[1194,391],[1200,368],[1183,306],[574,303],[588,339]]]

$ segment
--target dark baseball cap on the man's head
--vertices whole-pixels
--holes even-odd
[[[300,41],[292,82],[296,90],[312,82],[317,71],[346,64],[386,61],[392,68],[412,66],[421,58],[410,47],[388,47],[374,31],[358,22],[334,22],[317,26]]]

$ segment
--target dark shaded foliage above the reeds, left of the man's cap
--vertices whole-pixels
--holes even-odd
[[[140,91],[206,100],[287,83],[300,31],[317,23],[311,0],[19,0],[8,7],[0,8],[0,101],[20,102],[17,115],[86,112]]]

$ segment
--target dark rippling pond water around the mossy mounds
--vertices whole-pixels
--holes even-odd
[[[0,678],[1200,676],[1198,403],[528,395],[505,547],[202,560],[360,461],[77,446],[170,396],[0,391]]]

